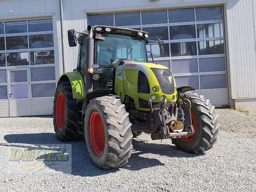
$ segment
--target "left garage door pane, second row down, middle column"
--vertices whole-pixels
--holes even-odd
[[[6,37],[6,49],[28,49],[28,36]]]

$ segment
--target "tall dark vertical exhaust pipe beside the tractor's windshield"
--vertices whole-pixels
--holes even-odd
[[[86,38],[86,71],[92,68],[93,65],[93,52],[94,52],[94,39],[92,38],[92,27],[87,27],[88,36]],[[85,75],[85,94],[93,91],[92,87],[92,74],[86,73]]]

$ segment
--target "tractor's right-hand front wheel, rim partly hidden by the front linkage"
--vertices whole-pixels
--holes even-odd
[[[186,138],[172,139],[172,143],[182,151],[200,153],[217,142],[219,132],[218,114],[210,100],[196,93],[181,93],[178,99],[189,99],[191,102],[191,119],[195,133]]]

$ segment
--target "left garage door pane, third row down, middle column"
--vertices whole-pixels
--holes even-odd
[[[7,53],[7,66],[28,65],[28,52]]]

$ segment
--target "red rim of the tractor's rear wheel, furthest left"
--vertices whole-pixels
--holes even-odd
[[[64,126],[66,110],[65,99],[63,93],[60,93],[57,98],[55,116],[58,129],[61,131]]]

